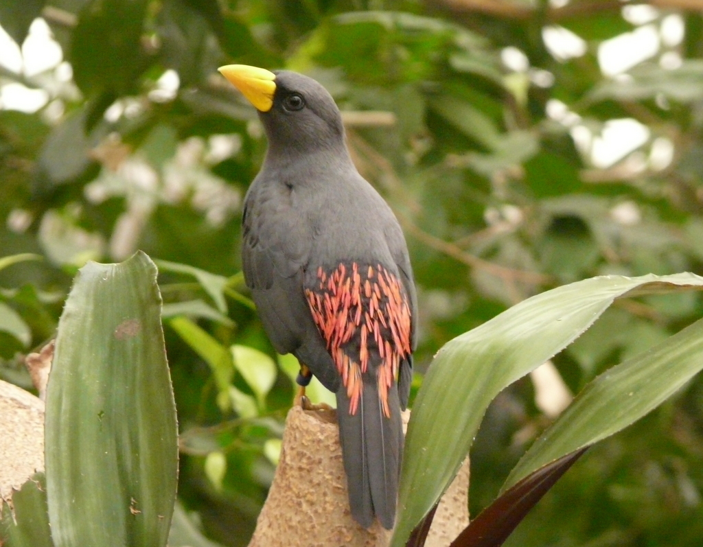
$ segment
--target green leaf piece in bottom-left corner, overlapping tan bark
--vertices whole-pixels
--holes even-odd
[[[53,547],[46,508],[46,478],[37,473],[0,504],[0,545],[5,547]]]

